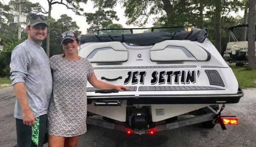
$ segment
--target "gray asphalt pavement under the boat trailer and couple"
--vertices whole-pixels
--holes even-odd
[[[238,125],[219,125],[204,129],[200,124],[157,132],[154,136],[132,134],[87,125],[78,147],[255,147],[256,146],[256,89],[244,89],[238,104],[227,104],[222,115],[235,115]],[[14,147],[16,143],[15,95],[12,87],[0,89],[0,146]],[[45,145],[47,146],[47,145]]]

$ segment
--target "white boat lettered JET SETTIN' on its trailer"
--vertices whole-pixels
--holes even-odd
[[[238,103],[244,93],[207,39],[207,29],[145,28],[145,33],[133,34],[137,29],[126,29],[129,34],[121,34],[124,29],[110,29],[108,34],[98,30],[80,37],[79,56],[91,62],[97,78],[130,88],[99,90],[88,82],[88,124],[153,135],[196,123],[208,128],[219,123],[222,129],[238,123],[236,116],[222,117],[221,111],[225,104]],[[186,115],[194,117],[180,119]]]

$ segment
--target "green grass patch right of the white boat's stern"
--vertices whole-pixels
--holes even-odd
[[[230,67],[241,88],[256,88],[256,70],[249,70],[246,65],[244,67],[236,67],[236,65],[231,64]]]

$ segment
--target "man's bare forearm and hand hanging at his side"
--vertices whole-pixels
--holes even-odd
[[[26,88],[23,82],[13,85],[15,96],[22,110],[23,123],[29,126],[35,124],[35,116],[32,113],[26,96]]]

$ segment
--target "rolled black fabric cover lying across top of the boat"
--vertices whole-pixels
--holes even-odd
[[[81,35],[80,44],[87,42],[126,42],[135,45],[145,46],[154,45],[157,42],[164,40],[191,40],[203,43],[208,35],[207,28],[198,30],[192,28],[191,31],[177,31],[177,32],[151,32],[140,34],[102,34],[102,35]]]

